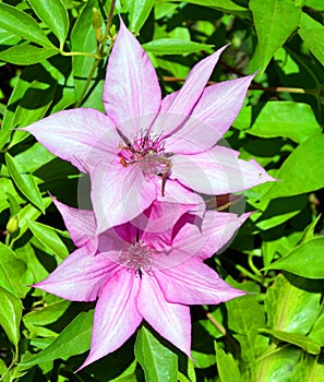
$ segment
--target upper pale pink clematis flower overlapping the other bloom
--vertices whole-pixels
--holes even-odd
[[[273,180],[256,162],[217,145],[253,77],[206,87],[225,48],[201,60],[182,88],[161,99],[152,62],[121,21],[104,85],[106,115],[64,110],[25,129],[55,155],[89,172],[98,234],[131,220],[156,200],[202,202],[192,192],[173,194],[175,183],[183,192],[215,195]]]

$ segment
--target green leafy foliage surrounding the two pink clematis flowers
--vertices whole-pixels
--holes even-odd
[[[120,0],[100,44],[110,5],[0,1],[1,380],[324,381],[323,1]],[[80,174],[15,128],[76,105],[103,110],[118,13],[149,53],[165,94],[227,43],[211,81],[260,70],[226,139],[280,181],[245,192],[247,210],[257,212],[208,263],[250,294],[192,308],[195,362],[144,324],[75,374],[94,306],[28,285],[73,250],[48,192],[77,206]]]

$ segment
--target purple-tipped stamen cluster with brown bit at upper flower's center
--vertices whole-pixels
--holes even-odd
[[[120,145],[119,158],[122,166],[137,165],[144,175],[157,175],[163,178],[161,194],[164,196],[165,183],[171,170],[172,163],[165,152],[160,136],[151,138],[146,132],[136,136],[128,146]]]

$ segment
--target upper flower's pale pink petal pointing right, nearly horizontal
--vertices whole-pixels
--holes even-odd
[[[195,155],[176,154],[170,177],[206,194],[243,191],[274,180],[255,160],[239,159],[239,154],[224,146]]]

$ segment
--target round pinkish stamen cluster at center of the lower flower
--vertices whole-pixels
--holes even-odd
[[[153,251],[143,241],[136,241],[128,249],[121,250],[119,255],[120,264],[129,271],[142,276],[142,272],[149,272],[153,265]]]

